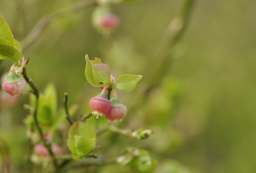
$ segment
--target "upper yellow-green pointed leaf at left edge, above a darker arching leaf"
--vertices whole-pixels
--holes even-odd
[[[12,31],[2,16],[0,16],[0,37],[8,40],[11,43],[11,46],[15,47]]]

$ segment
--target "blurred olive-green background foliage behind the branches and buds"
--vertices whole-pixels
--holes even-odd
[[[0,15],[14,38],[22,40],[41,17],[75,2],[78,0],[2,0]],[[62,108],[60,95],[67,91],[70,104],[79,103],[80,113],[86,114],[88,101],[99,89],[86,82],[85,55],[99,57],[115,77],[124,73],[144,76],[136,90],[119,93],[122,103],[132,109],[133,99],[150,82],[156,49],[179,3],[145,0],[113,4],[120,26],[110,38],[92,27],[93,6],[57,19],[22,50],[30,58],[27,71],[41,91],[49,82],[56,85],[58,108]],[[255,172],[255,6],[253,0],[197,1],[183,38],[173,48],[174,62],[163,82],[139,110],[118,125],[129,129],[144,126],[154,130],[154,135],[138,141],[108,132],[98,139],[97,145],[102,147],[97,153],[114,157],[126,146],[140,147],[157,160],[155,172]],[[0,74],[12,65],[6,60],[0,63]],[[6,101],[0,105],[0,135],[8,145],[13,172],[27,169],[29,147],[23,124],[28,91],[18,99],[19,104],[11,108],[2,106]],[[96,124],[93,118],[88,123]],[[106,123],[100,119],[98,126]],[[77,172],[85,170],[134,171],[111,164]]]

